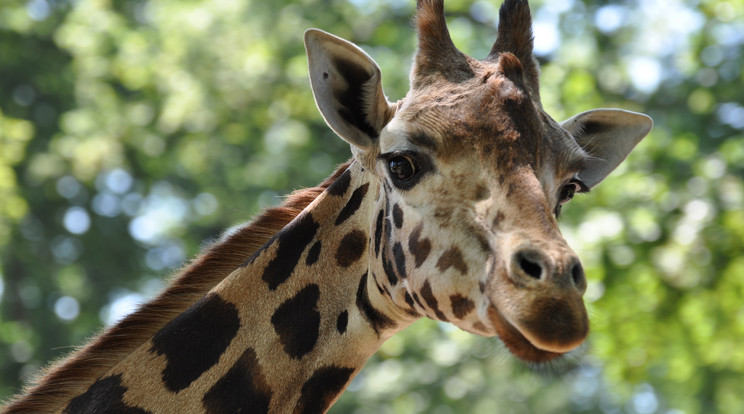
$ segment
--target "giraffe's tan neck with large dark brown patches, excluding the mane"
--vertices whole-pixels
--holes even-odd
[[[69,411],[101,395],[101,409],[325,411],[415,319],[370,275],[379,191],[352,163],[241,268],[73,398]]]

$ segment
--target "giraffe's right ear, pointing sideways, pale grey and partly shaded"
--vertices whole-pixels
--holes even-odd
[[[630,154],[653,126],[644,114],[621,109],[594,109],[561,123],[592,157],[578,177],[589,188],[604,180]]]

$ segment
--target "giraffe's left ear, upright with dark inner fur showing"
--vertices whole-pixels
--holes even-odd
[[[359,149],[377,144],[395,112],[382,92],[380,68],[362,49],[322,30],[305,32],[310,84],[323,118]]]

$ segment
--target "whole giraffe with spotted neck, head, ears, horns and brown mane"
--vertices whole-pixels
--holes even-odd
[[[484,60],[455,47],[442,0],[418,0],[416,26],[398,102],[370,56],[308,30],[312,91],[351,160],[206,249],[4,411],[325,412],[421,317],[530,362],[579,346],[586,278],[557,217],[651,119],[547,115],[526,0],[501,6]]]

